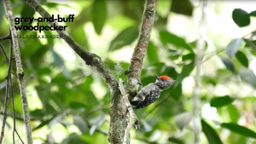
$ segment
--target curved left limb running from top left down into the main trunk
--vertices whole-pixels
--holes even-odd
[[[35,0],[25,0],[25,2],[35,9],[38,14],[44,18],[50,18],[51,15],[41,7]],[[48,22],[50,26],[59,26],[56,22]],[[111,112],[110,112],[110,128],[108,141],[110,143],[121,143],[125,135],[125,128],[127,126],[125,116],[127,109],[122,95],[120,94],[118,83],[98,55],[90,53],[83,49],[70,37],[65,31],[56,31],[66,41],[66,43],[85,61],[86,65],[92,66],[102,76],[104,81],[108,84],[111,92]]]

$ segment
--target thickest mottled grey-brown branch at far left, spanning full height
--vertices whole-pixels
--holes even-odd
[[[28,110],[27,100],[26,100],[26,88],[25,88],[25,84],[24,84],[25,73],[23,72],[23,68],[22,68],[18,39],[15,38],[15,36],[17,36],[17,32],[15,29],[14,14],[11,9],[9,0],[4,0],[4,6],[5,6],[5,10],[6,10],[6,17],[9,20],[9,28],[10,28],[10,33],[12,36],[12,44],[13,44],[14,50],[15,50],[15,61],[16,61],[18,80],[19,80],[19,84],[20,84],[20,95],[21,95],[22,110],[23,110],[23,115],[24,115],[24,124],[25,124],[25,128],[26,128],[26,139],[27,139],[26,143],[32,144],[33,143],[32,142],[32,131],[31,131],[31,127],[30,127],[29,110]],[[12,58],[10,58],[10,60],[12,60]]]

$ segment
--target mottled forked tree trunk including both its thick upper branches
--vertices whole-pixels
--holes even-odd
[[[32,9],[35,9],[42,17],[51,17],[51,15],[36,1],[25,0],[25,2],[30,5]],[[128,84],[126,84],[126,88],[129,89],[127,91],[129,91],[130,95],[137,93],[138,85],[137,83],[134,83],[134,80],[138,81],[140,79],[143,65],[143,57],[148,47],[150,32],[154,22],[155,7],[156,0],[146,1],[139,40],[131,58],[131,66],[127,71],[127,76],[129,80]],[[59,26],[56,22],[48,23],[50,26],[53,26],[54,24]],[[73,40],[72,37],[67,34],[67,32],[57,32],[67,42],[67,44],[85,61],[87,65],[92,66],[96,69],[97,72],[99,72],[104,81],[108,84],[108,88],[111,92],[110,129],[108,141],[112,144],[122,143],[124,141],[125,129],[128,123],[128,120],[126,120],[127,107],[125,106],[125,102],[122,99],[122,95],[119,91],[119,84],[113,77],[113,73],[110,72],[108,67],[102,62],[101,58],[98,55],[95,55],[83,49],[78,43]]]

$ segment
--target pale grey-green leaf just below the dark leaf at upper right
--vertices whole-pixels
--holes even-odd
[[[242,38],[233,39],[225,48],[226,55],[233,58],[237,51],[241,48],[242,41]]]

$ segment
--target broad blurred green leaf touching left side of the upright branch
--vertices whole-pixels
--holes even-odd
[[[131,44],[138,37],[138,34],[137,25],[126,28],[113,38],[109,46],[109,51],[120,49],[125,45]]]

